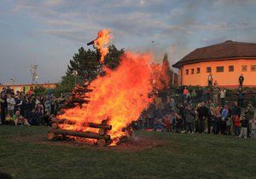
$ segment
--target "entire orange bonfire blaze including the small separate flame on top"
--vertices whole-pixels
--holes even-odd
[[[102,45],[108,42],[106,37],[110,37],[108,30],[99,32],[95,41],[96,47],[102,48]],[[99,51],[103,59],[108,54],[108,49],[102,48]],[[155,70],[159,68],[153,67],[152,61],[150,54],[125,53],[115,70],[105,66],[105,75],[99,75],[89,84],[92,91],[86,95],[90,102],[82,104],[81,107],[66,109],[63,114],[57,116],[58,121],[65,118],[66,122],[58,123],[56,128],[75,131],[77,136],[87,134],[84,137],[93,133],[96,136],[89,138],[103,139],[111,145],[116,145],[123,136],[129,136],[130,130],[125,129],[154,101],[152,92],[156,88],[155,85],[160,86],[155,83],[161,76],[160,72]],[[86,100],[88,99],[84,97],[84,101]],[[98,134],[102,137],[98,137]],[[66,135],[73,136],[69,133]]]

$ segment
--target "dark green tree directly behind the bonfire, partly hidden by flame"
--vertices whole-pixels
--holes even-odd
[[[114,45],[110,45],[108,51],[105,64],[110,69],[114,69],[119,66],[119,57],[125,53],[125,49],[117,49]],[[84,81],[92,81],[99,74],[99,67],[96,49],[86,50],[81,47],[69,61],[66,75],[62,77],[61,83],[57,84],[55,88],[55,95],[72,91],[75,84],[83,85]]]

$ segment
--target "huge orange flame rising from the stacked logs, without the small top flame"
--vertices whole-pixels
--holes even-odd
[[[96,78],[90,88],[90,102],[81,108],[67,109],[58,118],[68,118],[76,122],[75,125],[62,125],[70,130],[89,130],[83,124],[88,122],[101,123],[108,118],[108,123],[113,126],[109,135],[118,139],[125,135],[123,129],[137,120],[143,109],[153,101],[148,94],[153,90],[151,83],[152,71],[149,62],[150,54],[126,53],[121,57],[121,62],[116,70],[106,70],[106,75]]]

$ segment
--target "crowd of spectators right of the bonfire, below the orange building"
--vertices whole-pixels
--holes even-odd
[[[177,133],[234,135],[256,138],[256,118],[251,102],[226,102],[226,90],[217,86],[189,90],[177,89],[161,102],[155,101],[145,110],[137,128]]]

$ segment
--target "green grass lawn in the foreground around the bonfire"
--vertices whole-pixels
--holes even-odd
[[[14,178],[256,178],[256,140],[137,131],[158,145],[47,141],[47,127],[0,126],[0,172]]]

